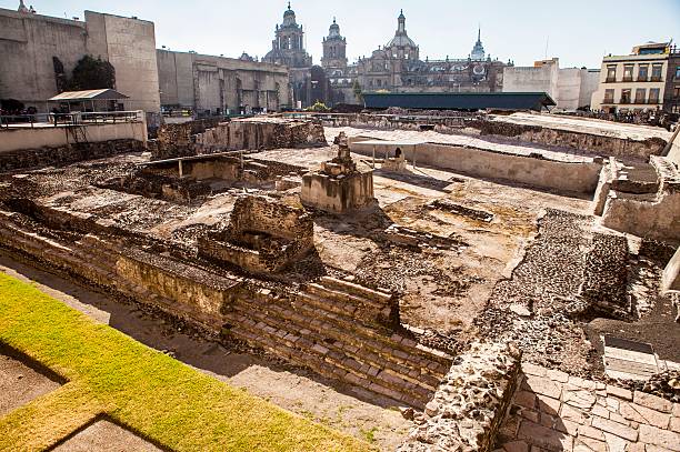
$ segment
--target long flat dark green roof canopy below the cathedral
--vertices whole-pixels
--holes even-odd
[[[368,109],[542,110],[554,106],[546,92],[364,92]]]

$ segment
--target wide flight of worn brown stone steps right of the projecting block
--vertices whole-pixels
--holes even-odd
[[[239,299],[231,333],[317,373],[422,408],[451,356],[394,333],[390,294],[332,278],[293,294]]]

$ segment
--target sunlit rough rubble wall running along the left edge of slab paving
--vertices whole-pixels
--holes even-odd
[[[399,452],[489,451],[512,400],[521,353],[511,343],[473,343],[413,419]]]

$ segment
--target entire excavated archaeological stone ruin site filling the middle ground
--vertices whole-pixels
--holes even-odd
[[[548,113],[12,133],[2,257],[207,338],[226,379],[257,358],[272,403],[361,403],[333,428],[382,450],[680,450],[677,134]]]

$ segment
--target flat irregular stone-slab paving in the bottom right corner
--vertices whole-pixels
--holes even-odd
[[[507,452],[680,451],[680,403],[522,364],[501,428]]]

